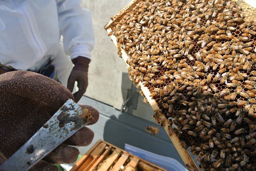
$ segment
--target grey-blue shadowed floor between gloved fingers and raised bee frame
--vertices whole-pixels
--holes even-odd
[[[78,104],[93,106],[100,112],[98,122],[88,126],[94,132],[92,143],[87,147],[78,147],[82,154],[86,153],[94,143],[101,139],[121,149],[124,149],[126,143],[158,155],[171,157],[184,165],[170,138],[159,125],[126,112],[122,113],[108,104],[86,96],[83,96]],[[160,133],[151,136],[144,130],[146,126],[157,127]]]

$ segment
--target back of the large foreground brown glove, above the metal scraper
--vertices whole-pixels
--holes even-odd
[[[0,151],[8,158],[71,98],[58,82],[30,71],[0,75]]]

